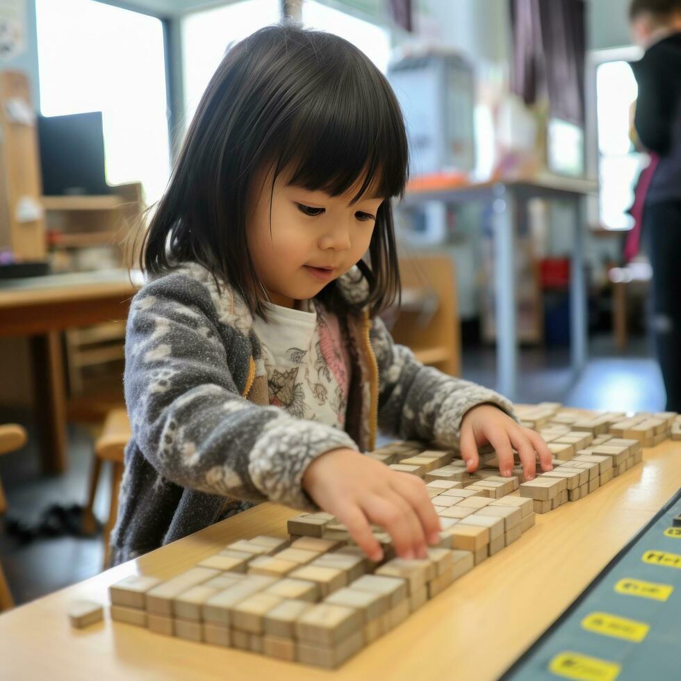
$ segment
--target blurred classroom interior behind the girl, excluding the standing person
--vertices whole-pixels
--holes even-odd
[[[284,17],[356,44],[404,110],[396,340],[517,402],[664,409],[650,264],[625,258],[649,160],[630,141],[628,5],[0,0],[0,427],[19,426],[6,446],[0,433],[0,559],[14,601],[101,570],[140,282],[121,243],[161,197],[225,49]]]

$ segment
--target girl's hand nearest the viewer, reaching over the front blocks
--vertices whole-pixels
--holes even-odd
[[[372,560],[381,560],[383,552],[371,524],[385,528],[402,558],[425,558],[426,544],[440,541],[440,519],[423,481],[354,450],[322,454],[306,468],[302,486]]]

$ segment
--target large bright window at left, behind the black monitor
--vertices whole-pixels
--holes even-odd
[[[101,111],[107,182],[142,182],[155,202],[170,172],[161,21],[93,0],[35,12],[42,115]]]

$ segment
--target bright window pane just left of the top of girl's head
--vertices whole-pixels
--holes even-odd
[[[279,0],[245,0],[182,19],[185,120],[188,123],[229,45],[279,22]],[[187,126],[185,126],[187,127]]]

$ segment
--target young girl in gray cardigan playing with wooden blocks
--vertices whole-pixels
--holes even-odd
[[[527,478],[536,454],[550,468],[508,400],[422,366],[378,316],[406,179],[400,108],[352,44],[270,26],[225,56],[140,258],[114,563],[265,500],[329,511],[373,559],[370,524],[425,556],[438,517],[420,479],[363,456],[378,425],[460,442],[468,470],[488,442],[503,475],[512,448]]]

